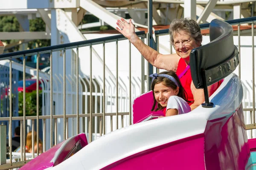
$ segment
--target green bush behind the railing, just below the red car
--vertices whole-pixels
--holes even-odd
[[[19,93],[19,116],[23,116],[23,93]],[[36,91],[26,93],[26,116],[36,116]],[[42,115],[42,91],[39,91],[39,115]]]

